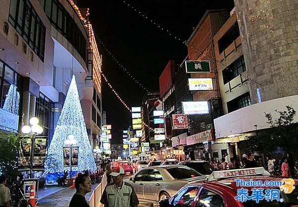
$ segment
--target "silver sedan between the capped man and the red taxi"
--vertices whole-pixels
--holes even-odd
[[[206,177],[187,166],[164,165],[144,168],[125,182],[134,187],[140,201],[155,203],[171,198],[189,182],[204,181]]]

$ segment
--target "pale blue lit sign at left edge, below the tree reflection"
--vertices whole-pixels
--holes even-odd
[[[19,116],[0,108],[0,129],[17,133]]]

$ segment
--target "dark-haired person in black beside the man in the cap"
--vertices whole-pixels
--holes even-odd
[[[90,207],[85,199],[85,195],[91,192],[91,179],[86,174],[78,175],[75,178],[74,187],[76,192],[69,207]]]

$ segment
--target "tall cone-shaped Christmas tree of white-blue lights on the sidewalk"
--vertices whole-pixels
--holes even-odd
[[[73,167],[73,171],[96,170],[74,76],[48,149],[48,156],[45,161],[47,173],[69,170],[70,167],[63,167],[63,147],[70,147],[70,145],[65,144],[65,140],[71,134],[77,141],[73,146],[78,147],[78,166]]]

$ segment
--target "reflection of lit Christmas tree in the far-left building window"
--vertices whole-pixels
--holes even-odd
[[[10,85],[3,105],[3,109],[18,115],[19,102],[20,93],[16,91],[15,86]]]

